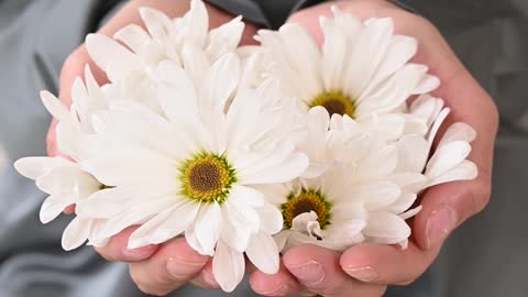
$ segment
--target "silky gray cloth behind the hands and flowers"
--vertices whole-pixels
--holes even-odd
[[[219,6],[229,2],[215,1]],[[41,226],[38,208],[44,194],[10,165],[21,156],[45,154],[51,119],[38,100],[38,90],[57,90],[61,65],[97,21],[92,20],[94,11],[101,2],[0,0],[0,157],[8,160],[4,166],[0,162],[0,297],[143,296],[130,280],[125,265],[102,261],[91,248],[63,252],[61,234],[68,218]],[[279,1],[267,6],[262,1],[231,2],[235,6],[228,9],[233,13],[261,18],[267,25],[293,9],[276,7],[283,3]],[[387,296],[527,296],[528,239],[522,234],[528,223],[528,1],[407,3],[440,28],[493,95],[502,123],[492,202],[455,231],[425,277],[413,287],[391,288]],[[253,295],[248,282],[231,295],[190,286],[173,294]]]

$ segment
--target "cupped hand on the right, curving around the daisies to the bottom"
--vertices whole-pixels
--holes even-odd
[[[318,44],[322,44],[319,18],[331,16],[331,6],[363,20],[393,18],[397,34],[418,40],[419,50],[413,62],[428,65],[430,73],[440,78],[442,84],[432,95],[444,99],[451,108],[444,127],[465,122],[477,132],[469,158],[476,164],[479,177],[435,186],[424,195],[424,208],[413,220],[413,238],[407,250],[361,244],[339,255],[314,245],[297,246],[283,255],[278,274],[252,273],[250,282],[253,289],[265,296],[290,296],[304,292],[323,296],[370,297],[382,296],[387,285],[410,284],[435,261],[447,237],[480,212],[490,199],[497,110],[438,30],[424,18],[384,0],[324,3],[294,14],[289,22],[299,23]]]

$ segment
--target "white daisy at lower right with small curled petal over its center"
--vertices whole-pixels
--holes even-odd
[[[258,186],[283,211],[286,229],[275,237],[279,248],[312,243],[343,251],[364,241],[406,244],[406,211],[424,175],[396,170],[398,146],[380,138],[373,123],[348,116],[333,116],[330,122],[328,112],[316,107],[306,125],[309,141],[299,147],[310,157],[311,174]]]

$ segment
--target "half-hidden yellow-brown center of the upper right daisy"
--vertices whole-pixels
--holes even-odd
[[[330,117],[334,113],[340,116],[349,116],[354,118],[355,105],[354,100],[349,96],[344,95],[342,91],[327,91],[318,95],[311,102],[310,108],[312,107],[323,107]]]

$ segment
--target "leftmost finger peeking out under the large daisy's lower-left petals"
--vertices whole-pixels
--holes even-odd
[[[132,234],[135,229],[138,229],[138,227],[130,227],[123,230],[113,237],[107,245],[96,248],[96,251],[106,260],[113,262],[133,263],[151,257],[157,251],[157,245],[147,245],[135,250],[127,249],[130,234]]]

